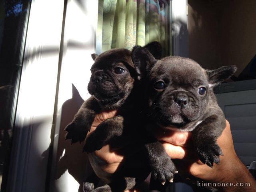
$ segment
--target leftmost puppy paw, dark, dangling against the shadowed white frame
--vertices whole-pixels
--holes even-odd
[[[74,123],[70,123],[66,126],[64,129],[66,132],[66,140],[71,139],[71,144],[76,143],[76,142],[82,142],[87,134],[87,130],[83,126],[76,126]]]

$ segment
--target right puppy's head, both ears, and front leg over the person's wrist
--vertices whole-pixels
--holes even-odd
[[[169,56],[156,60],[140,46],[132,50],[132,60],[146,82],[148,120],[163,129],[192,132],[200,160],[210,167],[219,164],[222,150],[216,139],[226,121],[213,87],[230,78],[236,66],[204,70],[188,58]]]

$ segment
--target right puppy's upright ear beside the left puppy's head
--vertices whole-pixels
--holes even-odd
[[[140,80],[154,66],[156,59],[146,48],[136,45],[132,49],[132,62]]]

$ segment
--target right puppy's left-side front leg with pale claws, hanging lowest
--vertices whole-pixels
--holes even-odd
[[[173,177],[177,170],[162,144],[154,141],[146,144],[145,148],[149,158],[151,175],[154,180],[160,181],[163,185],[166,180],[173,182]]]

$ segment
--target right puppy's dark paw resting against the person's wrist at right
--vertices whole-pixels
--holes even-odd
[[[220,164],[219,156],[223,154],[216,141],[196,145],[196,151],[199,159],[208,166],[212,167],[213,163]]]

